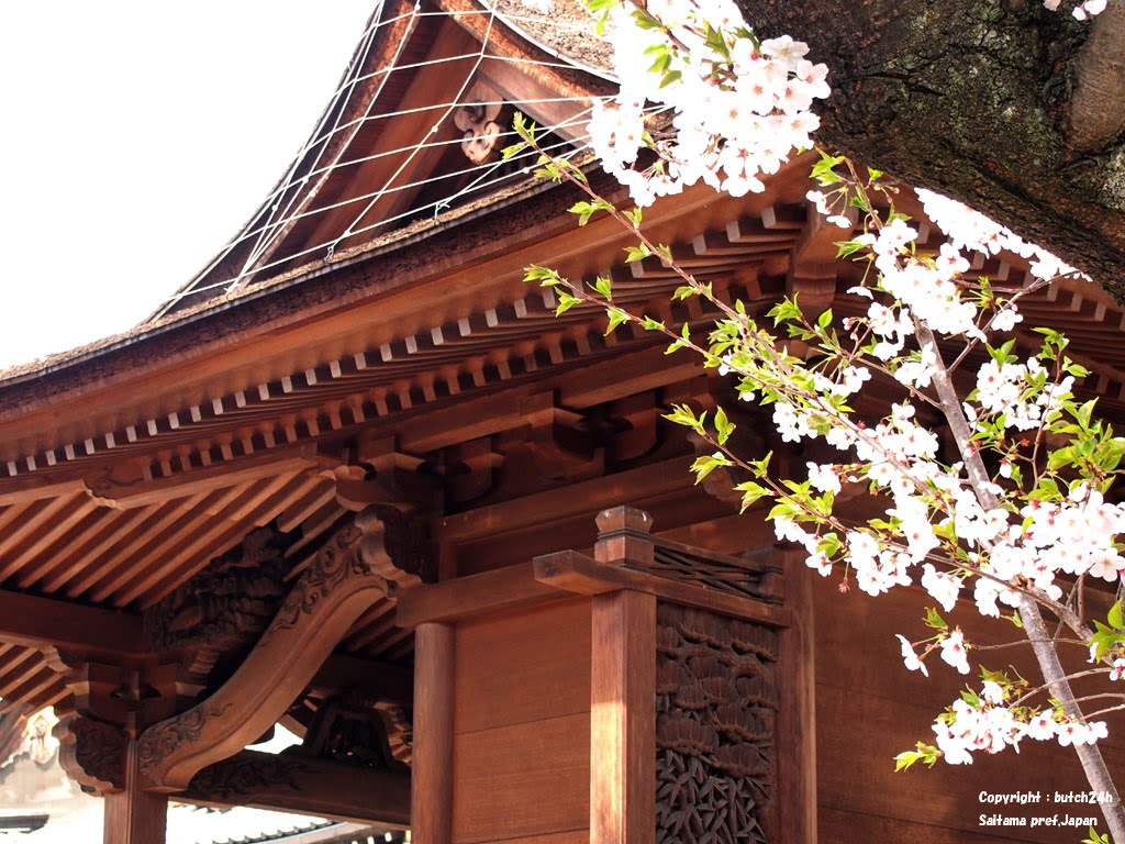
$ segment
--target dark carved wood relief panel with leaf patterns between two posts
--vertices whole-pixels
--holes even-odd
[[[656,647],[656,843],[767,844],[776,634],[660,603]]]

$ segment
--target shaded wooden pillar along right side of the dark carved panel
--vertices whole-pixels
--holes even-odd
[[[792,623],[781,631],[777,684],[785,699],[777,712],[777,788],[786,841],[817,841],[817,700],[813,643],[812,569],[801,549],[778,549],[785,576],[785,603]]]

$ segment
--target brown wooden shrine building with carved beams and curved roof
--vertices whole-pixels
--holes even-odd
[[[918,600],[839,594],[727,478],[693,486],[696,447],[663,414],[730,385],[594,309],[556,318],[521,280],[609,271],[669,322],[711,316],[500,160],[516,110],[580,156],[612,90],[566,5],[533,17],[386,0],[197,279],[129,334],[3,374],[0,709],[63,716],[115,844],[162,842],[169,800],[418,844],[1059,841],[994,830],[979,796],[1084,788],[1066,749],[892,773],[961,677],[902,671]],[[669,198],[652,236],[756,313],[798,291],[846,315],[858,270],[807,174]],[[1122,417],[1125,313],[1078,281],[1024,312],[1072,335],[1082,389]],[[748,454],[803,465],[768,415],[738,422]],[[303,744],[244,749],[278,722]]]

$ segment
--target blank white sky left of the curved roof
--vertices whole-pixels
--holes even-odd
[[[218,252],[375,2],[0,3],[0,367],[136,324]]]

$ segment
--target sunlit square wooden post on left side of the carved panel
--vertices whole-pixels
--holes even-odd
[[[656,838],[656,598],[593,598],[591,844]]]

